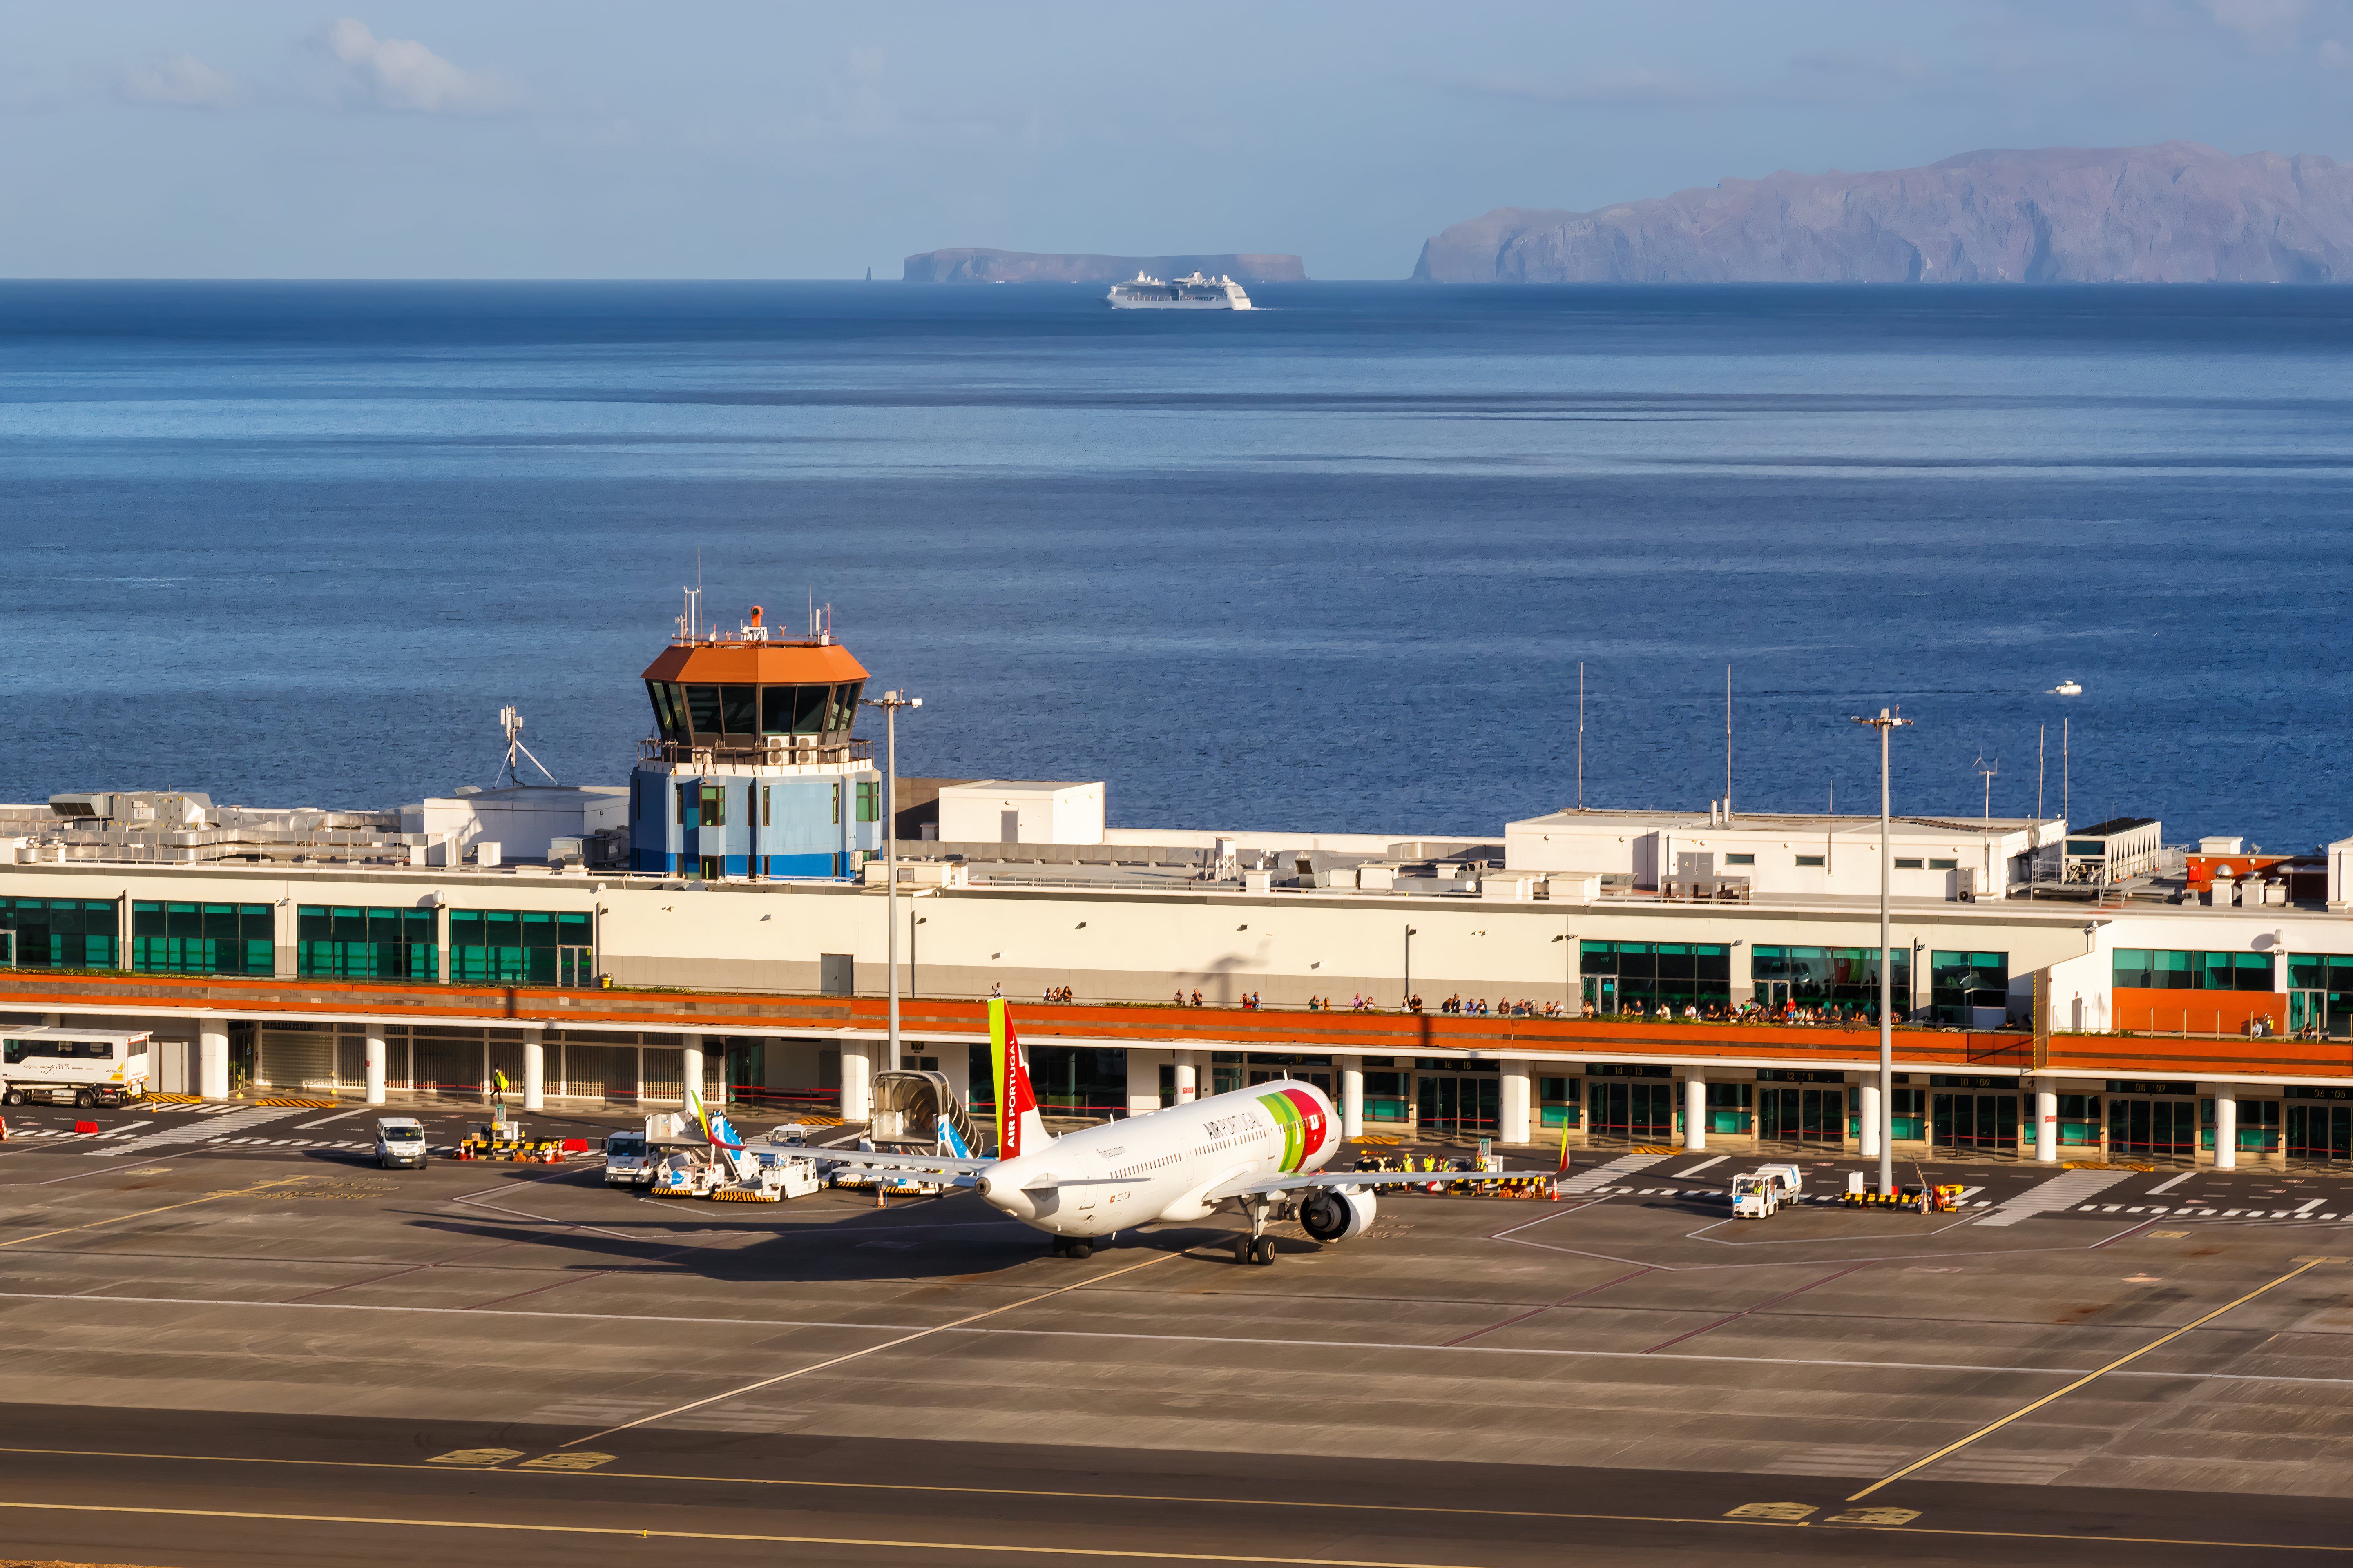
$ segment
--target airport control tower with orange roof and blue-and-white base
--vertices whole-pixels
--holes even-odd
[[[760,607],[699,625],[645,670],[654,736],[628,776],[628,867],[664,877],[849,877],[882,846],[882,773],[854,738],[866,668],[816,621],[779,637]]]

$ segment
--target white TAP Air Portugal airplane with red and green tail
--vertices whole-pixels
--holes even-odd
[[[1273,1220],[1297,1218],[1315,1241],[1348,1241],[1372,1229],[1379,1187],[1428,1187],[1433,1180],[1428,1171],[1325,1171],[1341,1147],[1339,1112],[1320,1088],[1297,1079],[1054,1138],[1038,1114],[1002,999],[988,1001],[988,1044],[998,1077],[993,1159],[833,1147],[821,1157],[969,1187],[993,1208],[1052,1234],[1056,1258],[1089,1258],[1099,1237],[1120,1229],[1205,1220],[1228,1208],[1249,1220],[1249,1234],[1233,1241],[1233,1260],[1271,1265],[1275,1241],[1266,1227]]]

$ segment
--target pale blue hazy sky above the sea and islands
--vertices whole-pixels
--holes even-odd
[[[2353,0],[0,0],[7,277],[896,277],[2205,141],[2353,160]]]

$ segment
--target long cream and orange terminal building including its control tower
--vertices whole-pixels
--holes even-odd
[[[0,806],[0,1020],[148,1030],[193,1095],[864,1119],[885,1067],[986,1100],[1002,994],[1049,1114],[1297,1074],[1351,1135],[1878,1152],[1878,818],[1111,827],[1099,780],[889,802],[831,635],[682,628],[642,679],[626,790]],[[1897,1150],[2353,1161],[2348,851],[2193,882],[2146,818],[1897,818]]]

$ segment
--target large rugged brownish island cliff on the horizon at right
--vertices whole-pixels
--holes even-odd
[[[1424,282],[2353,282],[2353,167],[2195,141],[1727,179],[1595,212],[1499,207]]]

